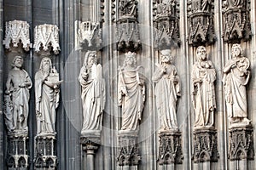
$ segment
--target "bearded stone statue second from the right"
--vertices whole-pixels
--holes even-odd
[[[213,127],[216,108],[214,81],[216,72],[210,60],[207,60],[207,49],[200,46],[196,49],[197,61],[192,67],[193,106],[195,109],[195,128]]]

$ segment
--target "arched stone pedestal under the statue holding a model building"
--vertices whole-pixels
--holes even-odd
[[[57,156],[55,156],[55,134],[36,136],[35,146],[35,169],[55,169],[57,167]]]

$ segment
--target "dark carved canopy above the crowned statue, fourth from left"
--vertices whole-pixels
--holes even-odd
[[[142,48],[137,24],[137,0],[119,0],[116,41],[118,50],[121,52],[136,52]]]

